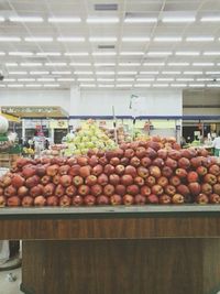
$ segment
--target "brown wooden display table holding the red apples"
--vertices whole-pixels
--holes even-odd
[[[216,294],[220,206],[2,208],[26,294]]]

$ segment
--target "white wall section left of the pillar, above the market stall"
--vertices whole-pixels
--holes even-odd
[[[69,112],[69,90],[1,90],[0,106],[61,106]]]

